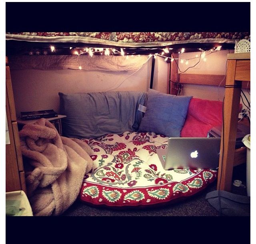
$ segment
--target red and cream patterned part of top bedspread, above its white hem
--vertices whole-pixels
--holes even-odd
[[[226,39],[233,41],[241,39],[249,39],[250,32],[6,32],[6,36],[14,38],[13,35],[18,35],[20,38],[24,36],[33,37],[34,41],[39,41],[40,38],[49,39],[49,42],[54,37],[74,37],[88,38],[100,40],[104,44],[104,40],[108,42],[122,43],[150,43],[150,42],[180,42],[188,41],[202,42],[202,39],[207,39],[208,42],[218,42],[218,40]],[[156,43],[155,43],[156,44]]]

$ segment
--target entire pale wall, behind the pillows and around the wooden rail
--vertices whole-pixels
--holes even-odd
[[[180,54],[179,58],[194,58],[196,54],[200,55],[200,52],[183,53]],[[186,73],[224,75],[226,73],[227,54],[227,50],[210,54],[206,56],[206,62],[201,61],[196,67],[188,69]],[[21,111],[55,109],[58,112],[58,92],[76,93],[107,91],[110,89],[115,91],[147,91],[150,86],[151,65],[152,58],[136,73],[134,71],[107,72],[72,69],[11,69],[17,116],[20,116]],[[190,60],[189,65],[194,65],[192,60]],[[179,62],[179,67],[181,71],[184,71],[188,66]],[[134,74],[131,75],[132,73]],[[129,75],[131,76],[128,77]],[[126,79],[127,77],[128,79]],[[168,78],[169,64],[163,58],[157,57],[155,60],[153,89],[168,93]],[[246,89],[243,89],[243,91],[250,100],[250,95]],[[222,101],[224,87],[184,84],[181,95],[192,95],[201,99]],[[243,105],[243,107],[245,106]]]

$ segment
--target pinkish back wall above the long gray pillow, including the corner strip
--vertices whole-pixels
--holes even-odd
[[[134,71],[107,72],[72,69],[11,69],[16,114],[19,117],[21,111],[44,109],[54,109],[58,112],[58,92],[95,92],[110,89],[113,91],[147,91],[150,87],[151,65],[152,58],[136,73]],[[167,69],[168,64],[158,57],[154,69],[154,79],[157,81],[155,89],[165,93],[168,83]],[[134,74],[131,75],[132,73]],[[129,75],[131,76],[128,77]]]

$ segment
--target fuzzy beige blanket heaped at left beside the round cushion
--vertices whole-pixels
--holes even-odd
[[[27,195],[34,216],[58,216],[76,200],[84,174],[92,169],[92,149],[79,139],[61,137],[42,118],[19,132]]]

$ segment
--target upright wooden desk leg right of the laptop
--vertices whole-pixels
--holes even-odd
[[[226,85],[242,85],[235,81],[236,60],[228,60]],[[239,113],[241,87],[226,88],[224,99],[224,133],[220,145],[220,161],[218,172],[218,190],[231,190],[236,146],[237,118]],[[224,151],[223,151],[224,145]],[[223,157],[223,161],[222,161]]]

